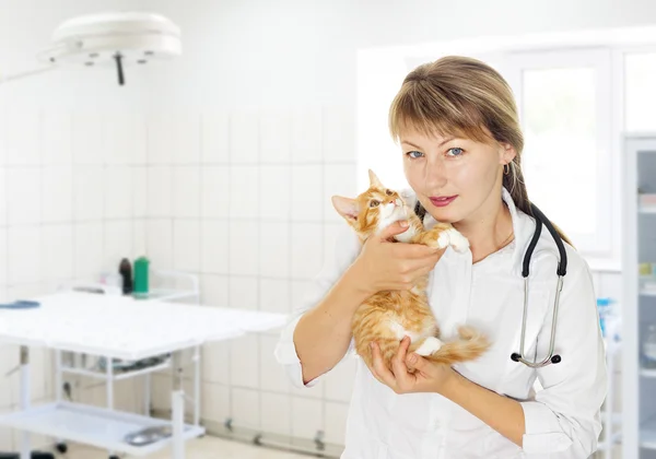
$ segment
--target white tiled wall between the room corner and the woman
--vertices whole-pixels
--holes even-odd
[[[199,273],[203,304],[290,313],[342,224],[330,195],[356,191],[353,110],[160,113],[148,130],[154,264]],[[272,355],[277,339],[206,346],[203,417],[311,438],[324,429],[341,442],[352,369],[292,390]]]

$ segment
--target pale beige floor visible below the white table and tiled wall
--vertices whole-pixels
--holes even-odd
[[[70,445],[66,455],[57,455],[61,459],[107,459],[107,451],[83,445]],[[245,443],[225,440],[204,436],[187,443],[185,459],[307,459],[311,456],[281,451]],[[121,456],[132,459],[132,456]],[[171,451],[164,449],[145,459],[169,459]]]

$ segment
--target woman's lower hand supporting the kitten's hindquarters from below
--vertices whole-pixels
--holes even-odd
[[[391,358],[391,368],[383,363],[380,348],[372,343],[373,367],[370,370],[376,379],[389,386],[396,393],[436,392],[455,379],[456,372],[445,364],[436,364],[411,353],[408,355],[410,338],[401,340],[397,355]],[[414,368],[414,373],[410,373]]]

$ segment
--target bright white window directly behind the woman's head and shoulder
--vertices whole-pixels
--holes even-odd
[[[612,254],[611,52],[508,54],[528,196],[584,254]]]

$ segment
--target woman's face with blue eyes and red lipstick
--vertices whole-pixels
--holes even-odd
[[[497,205],[503,166],[515,157],[511,145],[415,130],[403,132],[400,140],[406,179],[435,220],[476,221]]]

